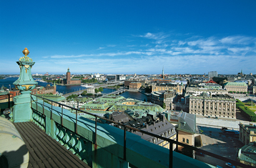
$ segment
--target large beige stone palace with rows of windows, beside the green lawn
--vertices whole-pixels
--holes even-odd
[[[225,94],[210,96],[206,92],[200,96],[189,95],[189,113],[206,117],[228,117],[236,119],[235,98]]]

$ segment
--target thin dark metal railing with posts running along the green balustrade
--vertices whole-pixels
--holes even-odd
[[[75,111],[76,111],[76,123],[75,123],[75,130],[74,130],[74,132],[77,134],[77,112],[82,112],[82,113],[85,113],[85,114],[89,114],[89,115],[91,115],[91,116],[93,116],[93,117],[95,117],[95,134],[94,134],[94,144],[97,144],[97,120],[98,119],[103,119],[103,120],[105,120],[105,121],[107,121],[107,122],[110,122],[110,123],[114,123],[114,124],[117,124],[118,126],[122,126],[122,127],[124,127],[124,160],[126,160],[126,142],[127,142],[127,134],[126,134],[126,132],[127,132],[127,129],[130,129],[130,130],[134,130],[134,131],[137,131],[137,132],[141,132],[141,133],[143,133],[143,134],[147,134],[147,135],[150,135],[150,136],[152,136],[152,137],[156,137],[157,139],[162,139],[162,140],[164,140],[164,141],[167,141],[167,142],[169,142],[169,168],[172,168],[172,159],[173,159],[173,144],[176,144],[176,145],[179,145],[179,146],[182,146],[182,147],[184,147],[184,148],[186,148],[186,149],[190,149],[191,151],[196,151],[196,152],[201,152],[202,154],[207,154],[208,156],[210,156],[210,157],[215,157],[216,159],[220,159],[220,160],[222,160],[222,161],[225,161],[225,162],[230,162],[231,164],[234,164],[235,166],[240,166],[240,167],[252,167],[252,166],[250,166],[250,165],[246,165],[246,164],[242,164],[242,163],[240,163],[240,162],[237,162],[237,161],[235,161],[235,160],[232,160],[232,159],[228,159],[228,158],[226,158],[226,157],[222,157],[222,156],[220,156],[220,155],[217,155],[217,154],[213,154],[213,153],[211,153],[211,152],[207,152],[207,151],[205,151],[205,150],[202,150],[202,149],[198,149],[197,147],[192,147],[192,146],[189,146],[189,145],[187,145],[187,144],[183,144],[182,142],[177,142],[177,141],[174,141],[173,139],[168,139],[168,138],[166,138],[166,137],[162,137],[162,136],[159,136],[159,135],[157,135],[157,134],[152,134],[152,133],[150,133],[150,132],[146,132],[146,131],[143,131],[143,130],[140,130],[140,129],[136,129],[136,128],[134,128],[134,127],[130,127],[130,126],[127,126],[127,125],[125,125],[125,124],[122,124],[122,123],[119,123],[119,122],[114,122],[114,121],[112,121],[112,120],[110,120],[110,119],[106,119],[106,118],[104,118],[104,117],[100,117],[100,116],[98,116],[98,115],[96,115],[96,114],[92,114],[92,113],[89,113],[89,112],[85,112],[85,111],[83,111],[83,110],[81,110],[81,109],[77,109],[77,108],[74,108],[74,107],[69,107],[69,106],[67,106],[66,104],[61,104],[61,103],[59,103],[59,102],[54,102],[54,101],[52,101],[52,100],[50,100],[50,99],[46,99],[46,98],[44,98],[44,97],[39,97],[39,96],[37,96],[37,95],[31,95],[31,108],[33,108],[32,107],[32,102],[35,102],[35,100],[34,100],[34,98],[33,97],[36,97],[36,111],[37,111],[37,107],[38,107],[38,104],[41,104],[41,103],[38,103],[38,98],[40,98],[40,99],[42,99],[43,100],[43,104],[41,104],[41,105],[43,105],[44,107],[45,107],[45,105],[44,105],[44,102],[45,102],[45,100],[47,101],[47,102],[51,102],[51,119],[52,119],[52,104],[53,103],[55,103],[55,104],[59,104],[59,107],[61,107],[61,126],[63,127],[63,107],[68,107],[68,108],[70,108],[70,109],[74,109]],[[32,101],[33,100],[33,101]],[[44,107],[43,107],[43,114],[44,114]],[[253,168],[253,167],[252,167]]]

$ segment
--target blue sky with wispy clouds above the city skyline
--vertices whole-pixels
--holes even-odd
[[[0,1],[0,74],[256,74],[256,1]]]

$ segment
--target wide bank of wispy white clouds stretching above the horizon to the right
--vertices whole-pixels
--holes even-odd
[[[235,69],[253,69],[252,62],[255,62],[255,56],[252,55],[256,49],[254,37],[217,38],[211,36],[202,38],[201,36],[192,36],[189,39],[170,40],[168,39],[169,35],[163,33],[147,33],[139,37],[145,39],[134,40],[129,45],[120,45],[120,48],[109,49],[108,52],[101,50],[104,47],[99,47],[89,54],[48,56],[51,58],[51,62],[55,62],[49,66],[52,66],[52,71],[56,65],[59,69],[67,65],[72,68],[72,71],[78,73],[95,71],[128,74],[143,73],[144,71],[145,74],[151,74],[156,73],[159,67],[159,73],[161,73],[161,67],[164,65],[164,71],[168,74],[172,74],[174,71],[176,73],[207,73],[207,71],[215,69],[218,69],[220,73],[228,74]],[[151,41],[150,44],[148,39],[153,39],[153,42]],[[240,43],[238,46],[232,42],[235,39]],[[245,41],[248,46],[244,46]],[[127,48],[127,46],[132,48]],[[63,71],[66,70],[65,66]]]

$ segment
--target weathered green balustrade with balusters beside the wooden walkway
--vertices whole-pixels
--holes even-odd
[[[52,104],[59,104],[59,107],[54,107]],[[73,114],[64,107],[67,105],[31,95],[33,122],[89,167],[214,167],[172,151],[172,144],[210,155],[236,166],[248,167],[232,159],[69,107],[75,112]],[[78,112],[91,115],[94,121],[79,116]],[[103,124],[105,122],[118,124],[124,130]],[[29,126],[26,127],[29,130]],[[167,141],[171,149],[147,142],[136,134],[127,132],[128,129]]]

